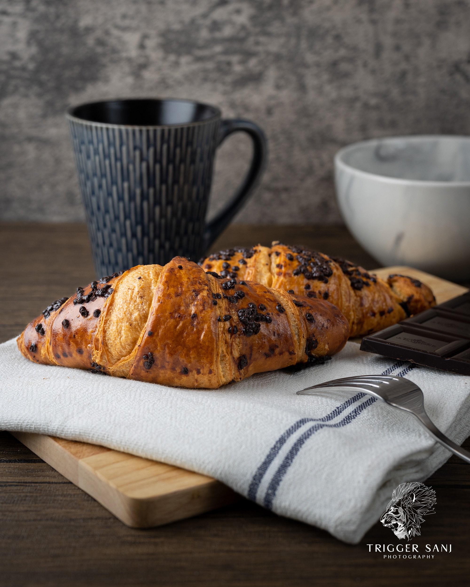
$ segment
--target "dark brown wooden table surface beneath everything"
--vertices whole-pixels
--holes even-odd
[[[234,225],[213,249],[280,239],[377,266],[342,227]],[[0,223],[0,342],[51,300],[95,278],[80,224]],[[469,447],[468,441],[464,446]],[[241,500],[164,527],[127,528],[8,433],[0,433],[0,585],[468,585],[470,467],[456,457],[427,481],[436,514],[414,539],[452,544],[434,559],[385,559],[380,522],[350,546]]]

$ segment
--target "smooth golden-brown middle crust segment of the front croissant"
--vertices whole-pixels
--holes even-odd
[[[176,257],[160,275],[128,377],[182,387],[220,387],[217,343],[209,276]]]

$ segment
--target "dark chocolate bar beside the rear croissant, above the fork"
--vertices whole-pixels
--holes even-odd
[[[470,292],[364,336],[361,350],[470,375]]]

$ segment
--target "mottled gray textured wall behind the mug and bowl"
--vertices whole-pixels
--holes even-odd
[[[337,222],[333,154],[368,137],[470,131],[468,0],[0,0],[0,218],[83,218],[70,104],[191,97],[265,130],[239,214]],[[230,139],[211,209],[249,157]]]

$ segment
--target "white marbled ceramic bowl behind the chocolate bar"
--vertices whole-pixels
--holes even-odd
[[[341,214],[373,257],[470,280],[470,137],[363,141],[334,163]]]

